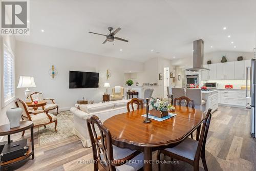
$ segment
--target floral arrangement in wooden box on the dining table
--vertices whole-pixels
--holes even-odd
[[[168,116],[168,111],[170,108],[170,104],[167,101],[160,100],[160,98],[154,99],[150,101],[150,115],[162,118]]]

